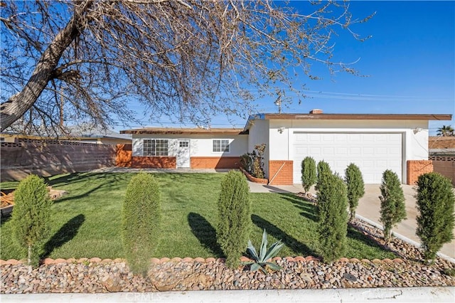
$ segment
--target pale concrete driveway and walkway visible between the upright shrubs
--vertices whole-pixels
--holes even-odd
[[[248,181],[250,185],[250,191],[252,193],[298,193],[304,191],[301,184],[287,185],[287,186],[267,186],[256,184]],[[360,217],[365,218],[368,221],[375,225],[382,226],[380,223],[380,184],[365,184],[365,196],[360,199],[359,205],[356,211],[356,214]],[[407,219],[402,220],[396,228],[392,229],[392,232],[397,234],[400,238],[406,238],[410,240],[408,242],[413,243],[414,245],[419,245],[420,239],[415,234],[417,230],[417,208],[416,200],[414,195],[416,193],[414,186],[402,184],[403,193],[405,193],[406,199],[406,213]],[[311,193],[316,193],[314,188],[311,188]],[[455,228],[454,228],[455,235]],[[442,249],[439,251],[441,254],[446,255],[447,257],[455,258],[455,240],[452,240],[450,243],[446,243]]]

